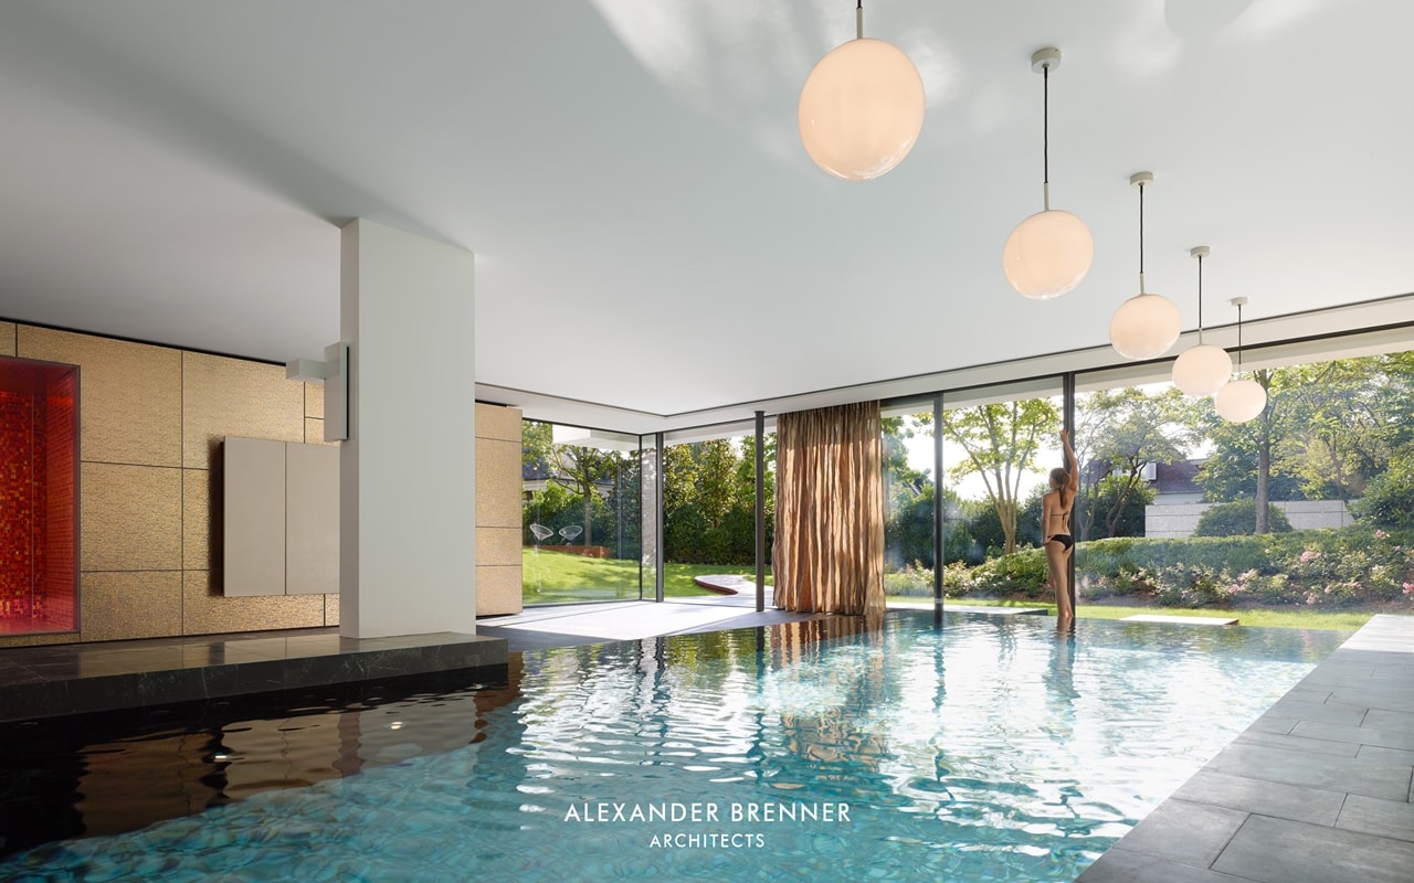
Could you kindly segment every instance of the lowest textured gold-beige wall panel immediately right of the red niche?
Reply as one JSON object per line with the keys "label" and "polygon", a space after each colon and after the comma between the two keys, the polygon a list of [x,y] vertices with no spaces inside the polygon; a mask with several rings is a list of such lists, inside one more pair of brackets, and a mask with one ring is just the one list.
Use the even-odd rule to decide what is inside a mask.
{"label": "lowest textured gold-beige wall panel immediately right of the red niche", "polygon": [[85,641],[181,634],[181,571],[83,574]]}

